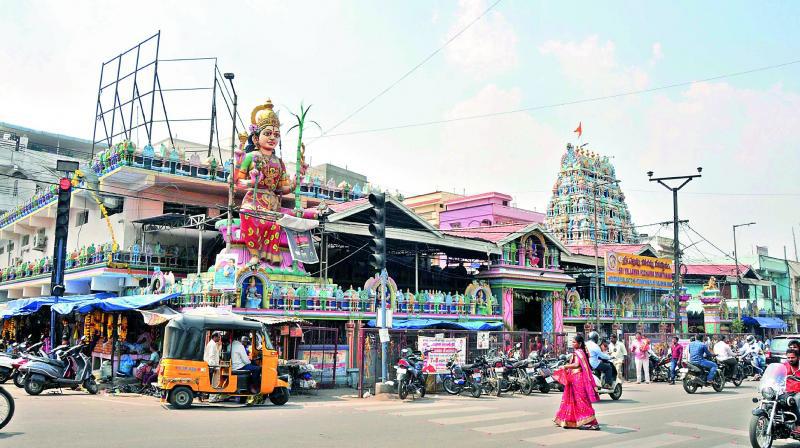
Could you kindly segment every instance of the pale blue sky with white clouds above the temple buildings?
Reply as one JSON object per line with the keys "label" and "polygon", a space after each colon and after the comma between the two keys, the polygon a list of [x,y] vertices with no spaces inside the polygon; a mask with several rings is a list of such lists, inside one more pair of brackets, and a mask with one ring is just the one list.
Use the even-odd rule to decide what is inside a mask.
{"label": "pale blue sky with white clouds above the temple buildings", "polygon": [[[741,72],[800,60],[800,4],[502,0],[463,31],[495,1],[0,0],[0,121],[91,139],[101,64],[160,30],[160,59],[216,57],[235,73],[245,120],[273,100],[289,162],[291,113],[310,104],[312,164],[406,196],[500,191],[544,211],[580,122],[581,143],[612,158],[641,233],[672,234],[647,226],[672,219],[672,198],[646,172],[703,167],[679,195],[697,231],[681,232],[696,243],[687,261],[725,260],[731,226],[751,221],[737,231],[740,254],[759,245],[782,257],[786,246],[794,258],[800,63]],[[165,62],[159,77],[165,89],[210,86],[213,61]],[[619,96],[634,91],[646,92]],[[168,92],[164,104],[170,119],[203,118],[210,98]],[[209,139],[207,123],[174,127]],[[226,146],[230,119],[219,128]]]}

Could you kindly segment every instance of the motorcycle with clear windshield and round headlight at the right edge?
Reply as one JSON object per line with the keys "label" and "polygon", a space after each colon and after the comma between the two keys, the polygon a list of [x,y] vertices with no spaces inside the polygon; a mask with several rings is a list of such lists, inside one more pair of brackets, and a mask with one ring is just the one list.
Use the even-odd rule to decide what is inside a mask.
{"label": "motorcycle with clear windshield and round headlight at the right edge", "polygon": [[796,376],[787,377],[786,366],[782,363],[770,364],[761,377],[758,385],[761,399],[753,398],[758,406],[752,411],[749,425],[753,448],[770,448],[779,439],[800,440],[800,436],[792,432],[798,424],[797,401],[793,394],[786,393],[787,378],[800,381]]}

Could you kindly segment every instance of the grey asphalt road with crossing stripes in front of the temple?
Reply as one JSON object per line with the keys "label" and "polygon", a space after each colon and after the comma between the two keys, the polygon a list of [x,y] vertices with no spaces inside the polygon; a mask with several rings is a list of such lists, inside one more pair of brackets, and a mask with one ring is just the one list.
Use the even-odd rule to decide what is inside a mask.
{"label": "grey asphalt road with crossing stripes in front of the temple", "polygon": [[[17,411],[0,447],[580,446],[592,448],[749,446],[756,383],[687,395],[680,385],[625,384],[623,397],[596,404],[599,432],[553,426],[560,395],[357,399],[342,390],[293,397],[283,407],[196,405],[68,391],[30,397],[11,384]],[[776,446],[797,446],[790,442]]]}

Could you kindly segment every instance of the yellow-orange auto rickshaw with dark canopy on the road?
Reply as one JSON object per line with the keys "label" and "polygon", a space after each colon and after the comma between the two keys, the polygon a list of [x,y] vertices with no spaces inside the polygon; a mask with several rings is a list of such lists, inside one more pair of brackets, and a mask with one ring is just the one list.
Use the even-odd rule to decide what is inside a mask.
{"label": "yellow-orange auto rickshaw with dark canopy on the road", "polygon": [[[212,333],[224,334],[228,349],[222,350],[219,365],[209,366],[203,353]],[[250,361],[261,366],[260,384],[251,384],[247,370],[231,366],[234,334],[244,334],[253,341]],[[228,356],[225,356],[226,353]],[[235,397],[268,397],[278,406],[289,401],[289,376],[278,376],[278,352],[269,340],[264,324],[241,316],[181,315],[172,319],[164,331],[164,356],[158,374],[161,401],[186,409],[195,397],[220,394]]]}

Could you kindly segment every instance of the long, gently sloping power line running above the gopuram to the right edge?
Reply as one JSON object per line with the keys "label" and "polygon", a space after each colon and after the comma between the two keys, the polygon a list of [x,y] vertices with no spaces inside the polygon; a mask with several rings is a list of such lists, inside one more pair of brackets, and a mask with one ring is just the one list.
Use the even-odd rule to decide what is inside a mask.
{"label": "long, gently sloping power line running above the gopuram to the right edge", "polygon": [[762,71],[767,71],[767,70],[775,70],[775,69],[788,67],[790,65],[794,65],[794,64],[798,64],[798,63],[800,63],[800,59],[794,60],[794,61],[783,62],[783,63],[780,63],[780,64],[773,64],[773,65],[767,65],[767,66],[763,66],[763,67],[757,67],[757,68],[753,68],[753,69],[749,69],[749,70],[743,70],[743,71],[739,71],[739,72],[732,72],[732,73],[726,73],[726,74],[717,75],[717,76],[711,76],[711,77],[708,77],[708,78],[702,78],[702,79],[698,79],[698,80],[694,80],[694,81],[681,81],[681,82],[676,82],[676,83],[672,83],[672,84],[665,84],[665,85],[661,85],[661,86],[658,86],[658,87],[651,87],[649,89],[630,90],[630,91],[615,93],[615,94],[611,94],[611,95],[602,95],[602,96],[583,98],[583,99],[578,99],[578,100],[573,100],[573,101],[562,101],[562,102],[558,102],[558,103],[544,104],[544,105],[539,105],[539,106],[531,106],[531,107],[525,107],[525,108],[521,108],[521,109],[512,109],[512,110],[501,111],[501,112],[491,112],[491,113],[485,113],[485,114],[466,115],[466,116],[463,116],[463,117],[448,118],[448,119],[444,119],[444,120],[432,120],[432,121],[424,121],[424,122],[419,122],[419,123],[408,123],[408,124],[402,124],[402,125],[397,125],[397,126],[387,126],[387,127],[383,127],[383,128],[364,129],[364,130],[360,130],[360,131],[351,131],[351,132],[339,132],[339,133],[336,133],[336,134],[323,133],[321,136],[317,137],[317,139],[330,138],[330,137],[342,137],[342,136],[358,135],[358,134],[368,134],[368,133],[375,133],[375,132],[385,132],[385,131],[392,131],[392,130],[397,130],[397,129],[407,129],[407,128],[417,128],[417,127],[424,127],[424,126],[433,126],[433,125],[447,124],[447,123],[453,123],[453,122],[458,122],[458,121],[477,120],[477,119],[481,119],[481,118],[491,118],[491,117],[498,117],[498,116],[502,116],[502,115],[517,114],[517,113],[521,113],[521,112],[533,112],[533,111],[538,111],[538,110],[554,109],[554,108],[558,108],[558,107],[574,106],[574,105],[577,105],[577,104],[593,103],[593,102],[605,101],[605,100],[609,100],[609,99],[623,98],[623,97],[627,97],[627,96],[641,95],[641,94],[645,94],[645,93],[653,93],[653,92],[658,92],[658,91],[661,91],[661,90],[674,89],[674,88],[677,88],[677,87],[686,87],[686,86],[690,86],[690,85],[696,84],[696,83],[717,81],[717,80],[720,80],[720,79],[733,78],[733,77],[736,77],[736,76],[744,76],[744,75],[749,75],[749,74],[752,74],[752,73],[757,73],[757,72],[762,72]]}

